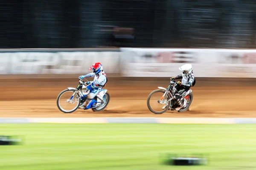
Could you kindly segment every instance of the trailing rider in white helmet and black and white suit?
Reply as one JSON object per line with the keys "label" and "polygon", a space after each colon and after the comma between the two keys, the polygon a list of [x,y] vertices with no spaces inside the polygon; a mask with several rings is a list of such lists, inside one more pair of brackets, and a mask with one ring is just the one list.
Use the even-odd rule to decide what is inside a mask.
{"label": "trailing rider in white helmet and black and white suit", "polygon": [[184,96],[186,92],[195,85],[195,77],[193,75],[193,68],[191,64],[182,65],[179,67],[179,70],[182,71],[182,74],[171,78],[171,80],[181,79],[181,82],[178,81],[172,91],[173,98],[176,103],[171,105],[171,107],[175,108],[175,105],[178,105],[176,108],[177,111],[184,105]]}

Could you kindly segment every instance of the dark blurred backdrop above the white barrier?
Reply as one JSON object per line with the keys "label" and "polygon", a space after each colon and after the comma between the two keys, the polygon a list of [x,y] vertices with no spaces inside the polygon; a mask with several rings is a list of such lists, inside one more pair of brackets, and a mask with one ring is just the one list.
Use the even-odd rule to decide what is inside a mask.
{"label": "dark blurred backdrop above the white barrier", "polygon": [[255,48],[255,0],[1,0],[0,48]]}

